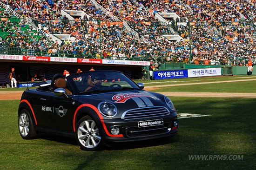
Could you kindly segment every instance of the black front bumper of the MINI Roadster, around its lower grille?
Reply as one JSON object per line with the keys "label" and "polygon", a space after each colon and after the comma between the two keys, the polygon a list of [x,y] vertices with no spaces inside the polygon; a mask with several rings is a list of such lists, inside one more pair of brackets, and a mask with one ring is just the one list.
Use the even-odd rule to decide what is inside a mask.
{"label": "black front bumper of the MINI Roadster, around its lower grille", "polygon": [[109,133],[112,127],[117,127],[120,130],[119,134],[123,137],[110,137],[105,135],[106,142],[133,142],[141,140],[156,139],[162,137],[172,137],[177,134],[177,116],[166,116],[163,118],[147,118],[149,120],[163,120],[163,124],[152,125],[146,127],[138,127],[138,122],[141,120],[123,120],[123,119],[107,119],[104,120]]}

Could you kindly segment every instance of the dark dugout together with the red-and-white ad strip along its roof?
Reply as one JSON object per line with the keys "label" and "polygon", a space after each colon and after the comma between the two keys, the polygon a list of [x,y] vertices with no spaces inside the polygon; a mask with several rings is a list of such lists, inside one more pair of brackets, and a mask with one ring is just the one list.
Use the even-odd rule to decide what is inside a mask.
{"label": "dark dugout together with the red-and-white ad strip along its roof", "polygon": [[64,70],[72,74],[78,69],[89,71],[92,66],[95,70],[121,71],[132,79],[139,79],[141,67],[149,64],[148,61],[0,55],[0,86],[10,85],[11,68],[15,68],[16,76],[20,74],[23,81],[31,81],[34,74],[51,79],[54,74],[62,74]]}

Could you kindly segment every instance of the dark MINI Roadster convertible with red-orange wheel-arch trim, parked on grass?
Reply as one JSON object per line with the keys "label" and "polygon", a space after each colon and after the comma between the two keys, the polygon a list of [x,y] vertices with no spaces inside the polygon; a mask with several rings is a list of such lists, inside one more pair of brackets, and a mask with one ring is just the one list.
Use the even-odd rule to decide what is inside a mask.
{"label": "dark MINI Roadster convertible with red-orange wheel-arch trim, parked on grass", "polygon": [[82,150],[105,144],[169,138],[177,133],[172,101],[143,90],[118,71],[75,73],[35,84],[20,99],[18,125],[23,139],[39,132],[76,138]]}

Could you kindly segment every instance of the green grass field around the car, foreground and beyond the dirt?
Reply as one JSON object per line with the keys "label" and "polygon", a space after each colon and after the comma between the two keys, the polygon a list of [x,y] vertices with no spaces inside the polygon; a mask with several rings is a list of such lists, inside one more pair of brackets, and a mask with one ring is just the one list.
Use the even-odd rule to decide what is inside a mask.
{"label": "green grass field around the car, foreground and beyond the dirt", "polygon": [[[193,81],[200,79],[193,78]],[[182,79],[185,80],[192,79]],[[253,90],[253,86],[247,86],[243,82],[231,85],[232,87],[229,85],[209,84],[196,89],[197,92],[222,92],[222,89],[229,88],[234,88],[232,92]],[[187,87],[184,91],[193,91],[188,85],[170,87],[164,91],[176,92],[183,87]],[[38,139],[22,139],[17,123],[19,100],[1,101],[0,170],[256,169],[256,98],[171,99],[179,113],[212,116],[179,119],[178,135],[172,139],[120,144],[95,152],[82,151],[74,139],[55,135],[42,134]],[[243,160],[189,160],[189,155],[239,155],[243,156]]]}

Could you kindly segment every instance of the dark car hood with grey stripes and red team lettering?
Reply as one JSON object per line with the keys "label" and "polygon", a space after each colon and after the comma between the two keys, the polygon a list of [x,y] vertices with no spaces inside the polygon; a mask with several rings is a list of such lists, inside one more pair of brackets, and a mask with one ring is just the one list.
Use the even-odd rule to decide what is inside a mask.
{"label": "dark car hood with grey stripes and red team lettering", "polygon": [[[91,104],[95,105],[96,107],[98,107],[98,104],[101,102],[110,102],[114,104],[118,109],[118,113],[123,113],[125,111],[136,108],[154,106],[164,106],[168,109],[169,112],[171,112],[166,105],[164,95],[155,92],[141,90],[121,91],[89,95],[87,97],[90,98],[90,103],[92,102]],[[82,103],[88,103],[88,99]]]}

